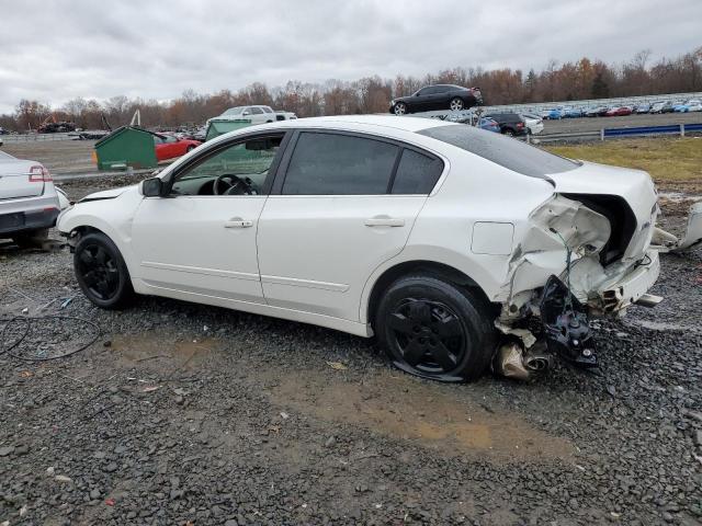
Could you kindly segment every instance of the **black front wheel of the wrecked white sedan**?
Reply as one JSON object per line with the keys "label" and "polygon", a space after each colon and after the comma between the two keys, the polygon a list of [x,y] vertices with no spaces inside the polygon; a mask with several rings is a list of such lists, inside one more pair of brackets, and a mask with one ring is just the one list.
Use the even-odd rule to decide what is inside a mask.
{"label": "black front wheel of the wrecked white sedan", "polygon": [[80,238],[73,253],[73,270],[80,289],[98,307],[122,309],[134,299],[127,265],[114,242],[102,232]]}

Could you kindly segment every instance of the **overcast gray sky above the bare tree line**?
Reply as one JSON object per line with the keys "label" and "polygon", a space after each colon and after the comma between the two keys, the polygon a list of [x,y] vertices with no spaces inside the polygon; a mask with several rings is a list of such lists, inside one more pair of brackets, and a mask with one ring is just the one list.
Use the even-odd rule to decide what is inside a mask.
{"label": "overcast gray sky above the bare tree line", "polygon": [[0,113],[702,45],[701,0],[0,0]]}

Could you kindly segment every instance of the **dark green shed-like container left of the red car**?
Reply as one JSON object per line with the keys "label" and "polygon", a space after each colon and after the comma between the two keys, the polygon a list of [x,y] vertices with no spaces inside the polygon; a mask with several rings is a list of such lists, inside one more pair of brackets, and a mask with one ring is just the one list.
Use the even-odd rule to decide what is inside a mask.
{"label": "dark green shed-like container left of the red car", "polygon": [[134,126],[123,126],[95,142],[94,160],[98,170],[155,168],[154,135]]}

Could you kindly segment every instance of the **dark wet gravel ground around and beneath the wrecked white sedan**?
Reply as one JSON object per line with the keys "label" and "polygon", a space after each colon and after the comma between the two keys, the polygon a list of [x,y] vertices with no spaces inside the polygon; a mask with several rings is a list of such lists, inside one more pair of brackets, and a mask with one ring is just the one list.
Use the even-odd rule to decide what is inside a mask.
{"label": "dark wet gravel ground around and beneath the wrecked white sedan", "polygon": [[[78,198],[127,182],[66,188]],[[666,220],[681,217],[671,208]],[[596,322],[600,374],[556,364],[529,384],[458,386],[398,373],[372,342],[312,325],[159,298],[99,310],[66,249],[5,244],[0,265],[0,318],[29,308],[100,328],[67,358],[0,354],[0,524],[702,518],[700,249],[663,256],[656,309]],[[79,348],[91,331],[43,320],[18,352]]]}

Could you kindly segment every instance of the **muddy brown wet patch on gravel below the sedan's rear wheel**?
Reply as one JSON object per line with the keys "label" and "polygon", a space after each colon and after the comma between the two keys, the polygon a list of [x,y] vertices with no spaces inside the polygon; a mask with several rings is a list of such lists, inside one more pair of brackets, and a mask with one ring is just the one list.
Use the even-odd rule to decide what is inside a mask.
{"label": "muddy brown wet patch on gravel below the sedan's rear wheel", "polygon": [[325,421],[360,425],[449,455],[571,457],[575,448],[568,441],[537,430],[514,413],[458,399],[454,387],[390,373],[350,384],[301,371],[280,378],[272,398],[284,408]]}

